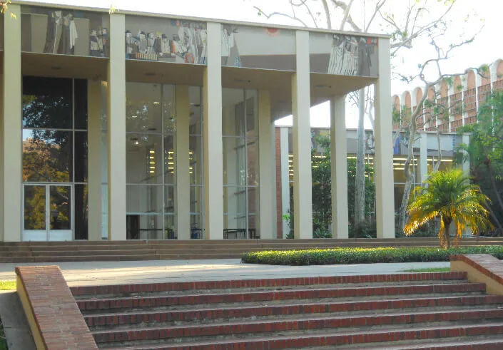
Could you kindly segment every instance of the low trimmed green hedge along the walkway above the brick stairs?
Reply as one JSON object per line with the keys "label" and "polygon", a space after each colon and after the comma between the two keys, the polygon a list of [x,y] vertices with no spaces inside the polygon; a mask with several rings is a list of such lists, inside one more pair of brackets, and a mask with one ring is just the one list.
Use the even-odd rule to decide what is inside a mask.
{"label": "low trimmed green hedge along the walkway above the brick stairs", "polygon": [[372,264],[376,262],[448,262],[455,254],[492,254],[503,259],[503,247],[377,247],[248,252],[242,262],[270,265]]}

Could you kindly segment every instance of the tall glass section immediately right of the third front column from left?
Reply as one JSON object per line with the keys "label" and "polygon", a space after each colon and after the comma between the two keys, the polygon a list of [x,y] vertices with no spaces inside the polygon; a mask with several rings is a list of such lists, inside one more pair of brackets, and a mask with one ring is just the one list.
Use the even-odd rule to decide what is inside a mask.
{"label": "tall glass section immediately right of the third front column from left", "polygon": [[223,237],[258,238],[258,92],[223,92]]}

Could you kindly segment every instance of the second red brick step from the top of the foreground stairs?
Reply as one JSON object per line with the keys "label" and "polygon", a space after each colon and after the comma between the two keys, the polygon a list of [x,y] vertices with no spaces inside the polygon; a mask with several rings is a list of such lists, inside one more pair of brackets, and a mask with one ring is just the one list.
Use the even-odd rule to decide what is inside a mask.
{"label": "second red brick step from the top of the foreground stairs", "polygon": [[159,297],[121,297],[77,300],[81,311],[96,309],[131,309],[141,307],[166,307],[188,304],[221,304],[243,302],[270,302],[291,299],[326,299],[342,297],[377,297],[408,294],[485,292],[483,283],[415,284],[405,286],[372,286],[275,290],[267,292],[233,292],[215,294],[183,294]]}

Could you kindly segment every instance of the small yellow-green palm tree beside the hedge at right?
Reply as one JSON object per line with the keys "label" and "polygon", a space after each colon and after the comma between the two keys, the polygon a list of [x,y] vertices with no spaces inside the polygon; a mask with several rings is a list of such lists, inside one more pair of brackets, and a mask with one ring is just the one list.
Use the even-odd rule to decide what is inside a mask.
{"label": "small yellow-green palm tree beside the hedge at right", "polygon": [[489,198],[462,170],[432,173],[425,181],[425,186],[416,187],[414,194],[407,207],[409,220],[404,227],[407,236],[438,217],[440,245],[449,248],[451,224],[456,227],[456,242],[466,227],[470,227],[474,235],[492,227],[488,220]]}

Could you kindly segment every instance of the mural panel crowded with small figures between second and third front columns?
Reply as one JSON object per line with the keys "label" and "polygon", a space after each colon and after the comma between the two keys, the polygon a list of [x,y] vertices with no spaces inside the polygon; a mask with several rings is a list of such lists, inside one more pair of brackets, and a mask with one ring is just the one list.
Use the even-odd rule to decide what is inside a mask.
{"label": "mural panel crowded with small figures between second and third front columns", "polygon": [[126,58],[206,64],[204,22],[126,16]]}

